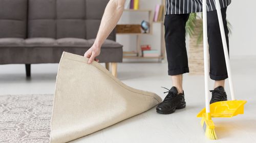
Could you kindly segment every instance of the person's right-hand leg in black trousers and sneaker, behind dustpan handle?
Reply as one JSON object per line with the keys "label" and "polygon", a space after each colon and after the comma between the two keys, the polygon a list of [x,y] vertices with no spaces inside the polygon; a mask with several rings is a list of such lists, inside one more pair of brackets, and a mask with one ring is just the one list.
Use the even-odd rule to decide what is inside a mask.
{"label": "person's right-hand leg in black trousers and sneaker, behind dustpan handle", "polygon": [[[222,8],[222,19],[225,29],[227,46],[228,43],[228,28],[226,21],[226,10]],[[208,43],[210,53],[210,78],[215,80],[214,90],[212,90],[212,98],[210,103],[227,100],[227,95],[224,90],[225,79],[228,78],[224,50],[222,45],[220,26],[217,16],[217,11],[207,12],[207,28],[208,28]]]}

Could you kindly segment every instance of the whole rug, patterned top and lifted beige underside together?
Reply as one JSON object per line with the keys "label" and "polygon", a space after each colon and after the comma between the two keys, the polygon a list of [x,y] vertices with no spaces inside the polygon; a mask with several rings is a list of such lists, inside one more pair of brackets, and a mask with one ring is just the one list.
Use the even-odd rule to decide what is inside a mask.
{"label": "whole rug, patterned top and lifted beige underside together", "polygon": [[55,97],[0,96],[0,142],[68,142],[138,115],[161,102],[154,93],[123,84],[100,64],[86,62],[83,56],[62,55]]}

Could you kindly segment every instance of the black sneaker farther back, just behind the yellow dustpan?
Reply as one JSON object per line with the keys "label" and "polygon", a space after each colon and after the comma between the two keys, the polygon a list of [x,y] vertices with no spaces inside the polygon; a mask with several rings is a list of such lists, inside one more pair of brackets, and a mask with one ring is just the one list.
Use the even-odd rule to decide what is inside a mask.
{"label": "black sneaker farther back, just behind the yellow dustpan", "polygon": [[227,94],[222,86],[219,86],[210,92],[211,92],[210,104],[218,101],[227,101]]}

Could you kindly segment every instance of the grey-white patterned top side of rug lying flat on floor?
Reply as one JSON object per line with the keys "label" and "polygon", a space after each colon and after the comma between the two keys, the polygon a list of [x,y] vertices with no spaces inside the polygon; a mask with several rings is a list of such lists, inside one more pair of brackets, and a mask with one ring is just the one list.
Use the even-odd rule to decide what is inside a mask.
{"label": "grey-white patterned top side of rug lying flat on floor", "polygon": [[0,96],[0,142],[50,141],[53,95]]}

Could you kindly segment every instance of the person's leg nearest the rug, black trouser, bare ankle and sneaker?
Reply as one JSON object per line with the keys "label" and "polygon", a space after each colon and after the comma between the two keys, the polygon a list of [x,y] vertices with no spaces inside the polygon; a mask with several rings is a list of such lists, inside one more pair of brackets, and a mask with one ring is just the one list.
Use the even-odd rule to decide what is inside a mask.
{"label": "person's leg nearest the rug, black trouser, bare ankle and sneaker", "polygon": [[166,15],[164,19],[168,75],[172,76],[173,87],[157,106],[158,113],[169,114],[186,106],[182,74],[189,72],[185,43],[185,25],[188,17],[189,14],[174,14]]}

